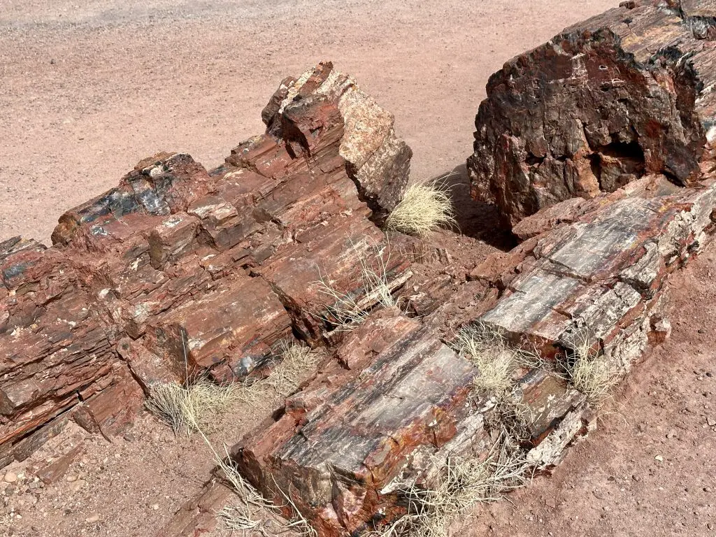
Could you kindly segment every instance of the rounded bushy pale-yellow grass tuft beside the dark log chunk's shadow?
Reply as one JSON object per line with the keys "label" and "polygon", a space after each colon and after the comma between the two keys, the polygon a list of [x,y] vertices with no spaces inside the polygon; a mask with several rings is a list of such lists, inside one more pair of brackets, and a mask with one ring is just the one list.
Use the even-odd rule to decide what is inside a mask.
{"label": "rounded bushy pale-yellow grass tuft beside the dark log chunk's shadow", "polygon": [[442,226],[455,225],[455,211],[445,185],[410,185],[385,222],[388,229],[425,236]]}

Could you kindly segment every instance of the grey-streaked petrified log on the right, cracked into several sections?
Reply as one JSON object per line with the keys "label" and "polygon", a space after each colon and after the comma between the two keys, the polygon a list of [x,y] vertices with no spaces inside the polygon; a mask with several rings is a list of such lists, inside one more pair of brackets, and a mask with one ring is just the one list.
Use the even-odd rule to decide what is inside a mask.
{"label": "grey-streaked petrified log on the right, cracked into several sections", "polygon": [[[586,203],[573,222],[497,254],[509,259],[501,266],[488,259],[473,271],[500,289],[496,301],[455,294],[422,322],[374,314],[278,419],[236,445],[242,473],[279,505],[289,495],[320,536],[342,536],[400,518],[407,488],[430,488],[448,458],[484,460],[501,427],[519,427],[513,441],[526,465],[556,465],[593,427],[591,401],[569,375],[532,366],[516,370],[505,409],[502,398],[475,392],[480,370],[445,345],[452,336],[440,324],[479,321],[536,349],[557,373],[581,356],[623,376],[663,336],[667,276],[716,231],[716,177],[684,189],[652,175]],[[463,317],[448,318],[450,306],[462,306]]]}

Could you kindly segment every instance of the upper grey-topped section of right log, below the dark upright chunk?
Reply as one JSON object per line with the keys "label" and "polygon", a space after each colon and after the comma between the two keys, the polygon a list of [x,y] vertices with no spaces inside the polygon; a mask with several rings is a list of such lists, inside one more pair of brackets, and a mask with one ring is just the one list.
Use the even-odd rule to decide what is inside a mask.
{"label": "upper grey-topped section of right log, below the dark upright chunk", "polygon": [[673,191],[665,178],[643,178],[607,196],[609,203],[594,200],[575,223],[539,236],[483,321],[528,339],[545,356],[586,343],[628,369],[647,344],[668,274],[714,231],[713,178]]}

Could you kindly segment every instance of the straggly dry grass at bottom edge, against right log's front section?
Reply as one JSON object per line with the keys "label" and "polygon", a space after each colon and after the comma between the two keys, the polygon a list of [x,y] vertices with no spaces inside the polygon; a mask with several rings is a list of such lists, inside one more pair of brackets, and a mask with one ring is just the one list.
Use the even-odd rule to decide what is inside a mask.
{"label": "straggly dry grass at bottom edge, against right log's front section", "polygon": [[406,486],[399,490],[407,503],[405,516],[372,532],[378,537],[448,537],[450,526],[476,503],[526,485],[529,465],[523,450],[503,430],[485,460],[449,456],[433,488]]}

